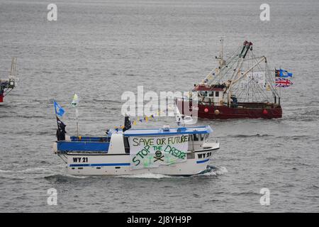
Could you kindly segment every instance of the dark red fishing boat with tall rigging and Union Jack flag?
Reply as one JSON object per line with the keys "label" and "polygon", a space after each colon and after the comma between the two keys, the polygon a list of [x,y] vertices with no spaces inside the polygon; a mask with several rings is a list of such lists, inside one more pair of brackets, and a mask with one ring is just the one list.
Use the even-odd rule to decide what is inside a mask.
{"label": "dark red fishing boat with tall rigging and Union Jack flag", "polygon": [[[279,70],[269,70],[266,57],[256,57],[252,43],[245,41],[233,55],[224,59],[223,38],[220,39],[219,65],[188,96],[176,99],[183,115],[198,118],[281,118]],[[282,77],[287,76],[286,72]],[[280,71],[280,72],[281,72]],[[275,74],[276,73],[276,74]],[[291,77],[292,74],[288,73]],[[289,81],[290,82],[290,81]],[[190,114],[193,111],[193,114]]]}

